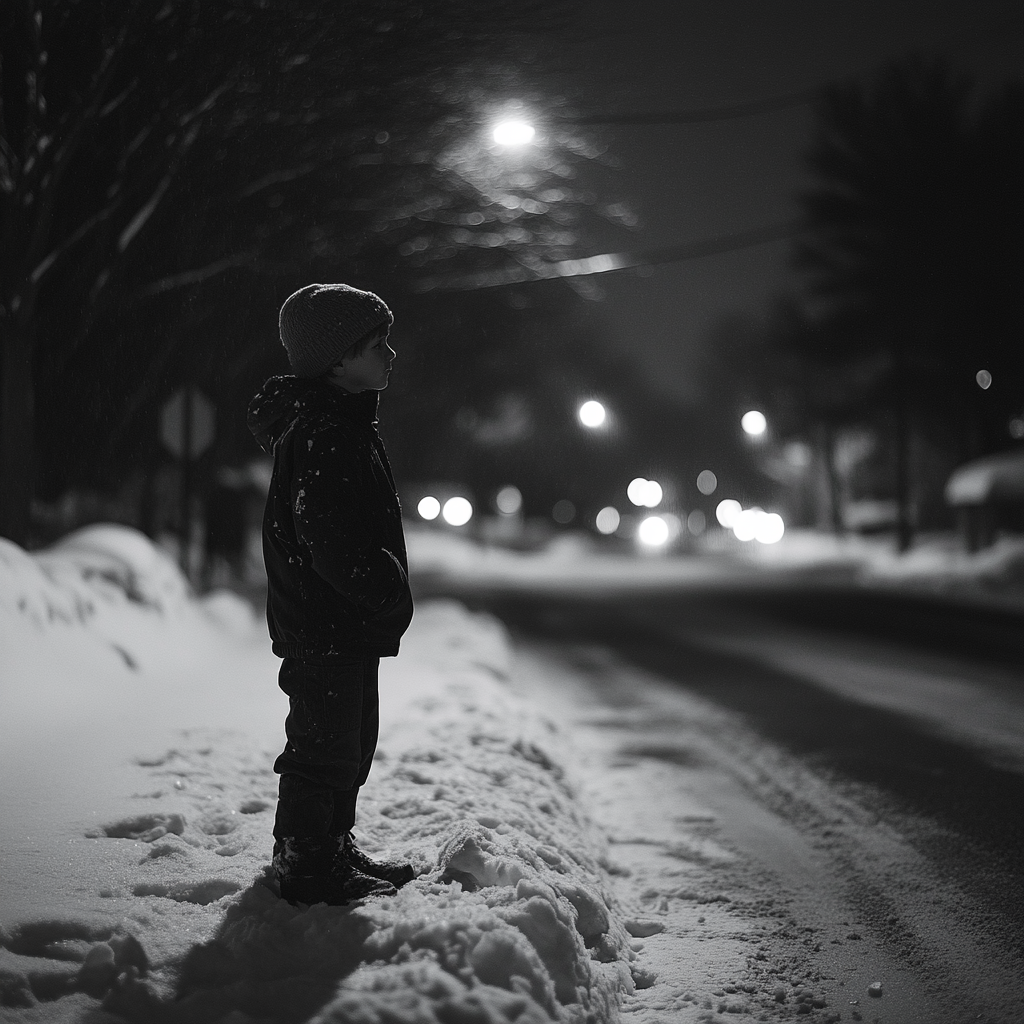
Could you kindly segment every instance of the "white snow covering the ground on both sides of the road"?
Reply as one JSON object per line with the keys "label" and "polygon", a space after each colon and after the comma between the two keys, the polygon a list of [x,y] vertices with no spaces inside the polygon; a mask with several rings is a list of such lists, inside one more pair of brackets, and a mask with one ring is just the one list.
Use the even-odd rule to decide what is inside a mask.
{"label": "white snow covering the ground on both sides of the road", "polygon": [[[412,542],[419,571],[504,586],[731,571],[682,559],[638,570],[571,541],[538,556]],[[783,552],[758,557],[777,571]],[[900,566],[795,538],[784,564],[1015,599],[1019,550],[986,557]],[[394,899],[302,912],[267,876],[287,701],[246,605],[194,599],[130,531],[95,527],[34,556],[0,541],[0,1020],[961,1019],[870,941],[822,852],[920,886],[927,868],[899,837],[733,716],[600,649],[513,651],[493,620],[421,604],[382,666],[357,828],[420,877]],[[870,674],[838,685],[870,698]],[[993,756],[1013,761],[1017,709],[990,712],[1004,730]],[[813,842],[766,809],[792,793]],[[970,955],[984,984],[987,951],[944,935],[929,901],[902,898],[939,961]]]}

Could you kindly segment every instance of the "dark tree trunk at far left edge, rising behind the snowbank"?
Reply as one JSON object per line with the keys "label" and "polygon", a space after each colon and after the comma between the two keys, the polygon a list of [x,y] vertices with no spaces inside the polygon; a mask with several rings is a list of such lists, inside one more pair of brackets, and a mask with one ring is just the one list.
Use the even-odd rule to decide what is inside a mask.
{"label": "dark tree trunk at far left edge, rising behind the snowbank", "polygon": [[32,333],[8,322],[0,330],[0,537],[22,547],[32,539],[34,417]]}

